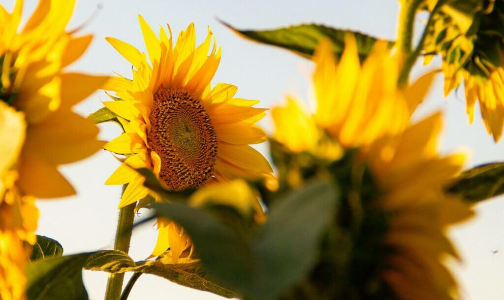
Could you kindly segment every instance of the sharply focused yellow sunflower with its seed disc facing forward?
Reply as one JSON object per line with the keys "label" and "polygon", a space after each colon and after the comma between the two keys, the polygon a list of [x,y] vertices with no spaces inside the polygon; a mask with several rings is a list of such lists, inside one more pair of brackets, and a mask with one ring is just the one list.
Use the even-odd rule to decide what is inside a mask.
{"label": "sharply focused yellow sunflower with its seed disc facing forward", "polygon": [[[266,109],[253,107],[259,100],[234,98],[233,85],[210,85],[221,58],[210,29],[196,47],[194,24],[174,41],[169,26],[168,34],[160,27],[158,38],[141,16],[139,21],[149,59],[128,43],[106,38],[134,67],[133,80],[119,76],[110,81],[105,89],[116,93],[114,101],[103,103],[124,130],[104,146],[126,156],[105,183],[128,184],[119,208],[149,194],[144,177],[130,166],[150,168],[171,191],[240,177],[272,178],[268,161],[249,146],[266,140],[255,125]],[[158,228],[151,257],[168,247],[179,253],[190,245],[178,225],[159,219]]]}

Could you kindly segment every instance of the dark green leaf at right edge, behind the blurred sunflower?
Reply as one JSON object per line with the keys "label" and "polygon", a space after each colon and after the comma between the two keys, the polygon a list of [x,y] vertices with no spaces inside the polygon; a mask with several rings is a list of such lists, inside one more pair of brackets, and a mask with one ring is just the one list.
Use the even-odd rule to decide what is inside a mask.
{"label": "dark green leaf at right edge, behind the blurred sunflower", "polygon": [[504,163],[489,163],[467,170],[447,190],[473,203],[504,194]]}

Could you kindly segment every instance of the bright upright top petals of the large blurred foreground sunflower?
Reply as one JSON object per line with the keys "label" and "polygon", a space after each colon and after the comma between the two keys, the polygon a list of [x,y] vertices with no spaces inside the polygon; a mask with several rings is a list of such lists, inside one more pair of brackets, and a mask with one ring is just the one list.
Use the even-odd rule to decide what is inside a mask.
{"label": "bright upright top petals of the large blurred foreground sunflower", "polygon": [[[401,132],[434,77],[430,72],[398,88],[400,55],[393,55],[385,41],[377,41],[361,64],[351,34],[345,37],[339,60],[331,42],[322,40],[313,62],[316,112],[308,115],[292,98],[286,106],[272,109],[274,138],[294,152],[320,148],[324,137],[320,128],[344,148],[366,146],[381,136]],[[335,158],[341,154],[336,146],[329,149]]]}

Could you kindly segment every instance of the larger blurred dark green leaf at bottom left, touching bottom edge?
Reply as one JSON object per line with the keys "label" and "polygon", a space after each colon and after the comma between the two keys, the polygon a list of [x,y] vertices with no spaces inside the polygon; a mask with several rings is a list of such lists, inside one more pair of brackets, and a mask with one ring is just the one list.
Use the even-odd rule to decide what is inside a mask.
{"label": "larger blurred dark green leaf at bottom left, touching bottom edge", "polygon": [[27,266],[30,300],[87,300],[82,267],[92,253],[45,259]]}

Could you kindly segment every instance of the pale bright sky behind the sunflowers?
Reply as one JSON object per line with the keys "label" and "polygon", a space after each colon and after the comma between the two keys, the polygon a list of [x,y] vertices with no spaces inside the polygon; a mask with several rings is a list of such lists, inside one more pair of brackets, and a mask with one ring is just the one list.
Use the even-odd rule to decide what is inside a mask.
{"label": "pale bright sky behind the sunflowers", "polygon": [[[36,0],[25,0],[26,12],[33,10]],[[2,0],[12,9],[14,0]],[[71,69],[95,74],[112,71],[129,76],[131,66],[104,37],[113,36],[143,49],[143,40],[137,14],[157,28],[169,23],[174,34],[190,22],[195,22],[199,42],[206,35],[207,25],[222,46],[220,68],[214,83],[237,85],[238,97],[260,99],[263,107],[282,101],[288,93],[300,99],[312,99],[310,73],[312,65],[304,58],[290,52],[246,41],[219,24],[219,17],[239,28],[274,28],[298,23],[323,23],[338,28],[350,28],[377,37],[393,39],[398,2],[394,0],[234,0],[234,1],[173,1],[173,0],[85,0],[78,3],[71,28],[84,22],[102,6],[97,17],[83,30],[94,33],[95,39],[84,57]],[[26,16],[26,15],[25,15]],[[417,18],[417,33],[422,18]],[[439,59],[428,68],[439,66]],[[417,65],[414,76],[427,68]],[[445,132],[442,151],[448,152],[462,146],[471,149],[472,160],[468,167],[485,162],[504,160],[504,143],[495,144],[486,133],[479,113],[474,124],[468,125],[462,91],[444,98],[442,78],[437,78],[426,102],[415,118],[434,110],[445,114]],[[101,107],[103,92],[97,92],[76,110],[87,115]],[[263,126],[271,129],[271,120]],[[119,130],[114,125],[100,126],[100,138],[111,140]],[[258,147],[267,154],[267,147]],[[117,204],[120,187],[105,186],[103,182],[117,167],[118,162],[107,152],[71,165],[61,167],[78,191],[78,196],[58,200],[38,201],[41,212],[38,234],[55,238],[65,248],[66,254],[100,249],[111,249],[117,221]],[[491,200],[477,207],[478,217],[451,232],[464,264],[457,268],[467,300],[501,300],[504,282],[504,201]],[[145,215],[145,214],[144,214]],[[135,229],[130,255],[135,260],[145,259],[151,253],[156,231],[150,225]],[[129,278],[129,275],[127,276]],[[90,298],[103,298],[107,274],[86,271],[84,281]],[[219,296],[191,290],[172,284],[165,279],[143,275],[133,288],[130,299],[218,299]]]}

